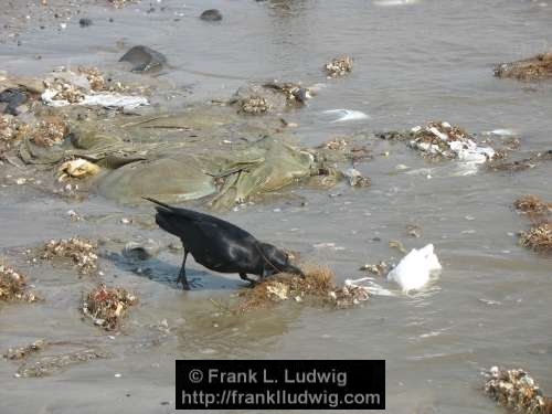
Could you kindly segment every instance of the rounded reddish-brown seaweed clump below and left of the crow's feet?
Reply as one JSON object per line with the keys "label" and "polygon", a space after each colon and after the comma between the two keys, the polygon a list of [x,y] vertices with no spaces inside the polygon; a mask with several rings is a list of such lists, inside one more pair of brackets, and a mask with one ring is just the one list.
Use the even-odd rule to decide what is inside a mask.
{"label": "rounded reddish-brown seaweed clump below and left of the crow's feet", "polygon": [[124,288],[107,288],[100,284],[86,295],[81,311],[92,318],[94,325],[105,330],[116,330],[128,308],[137,301],[138,298]]}

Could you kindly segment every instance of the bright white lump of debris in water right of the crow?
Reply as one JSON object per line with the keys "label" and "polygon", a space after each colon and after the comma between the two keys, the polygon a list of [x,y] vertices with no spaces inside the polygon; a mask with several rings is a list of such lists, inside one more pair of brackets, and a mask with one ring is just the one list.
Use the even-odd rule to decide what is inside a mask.
{"label": "bright white lump of debris in water right of the crow", "polygon": [[431,276],[440,269],[440,263],[433,253],[433,244],[428,244],[421,250],[413,248],[388,274],[388,279],[397,283],[403,293],[408,293],[420,290],[429,282]]}

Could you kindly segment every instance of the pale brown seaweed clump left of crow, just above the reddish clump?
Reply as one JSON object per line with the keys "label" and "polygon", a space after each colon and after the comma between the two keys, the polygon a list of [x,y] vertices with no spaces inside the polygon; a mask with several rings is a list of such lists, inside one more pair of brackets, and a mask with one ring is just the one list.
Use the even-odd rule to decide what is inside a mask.
{"label": "pale brown seaweed clump left of crow, just above the reddish clump", "polygon": [[42,248],[41,258],[71,259],[81,274],[92,274],[97,270],[97,245],[91,241],[72,237],[70,240],[51,240]]}

